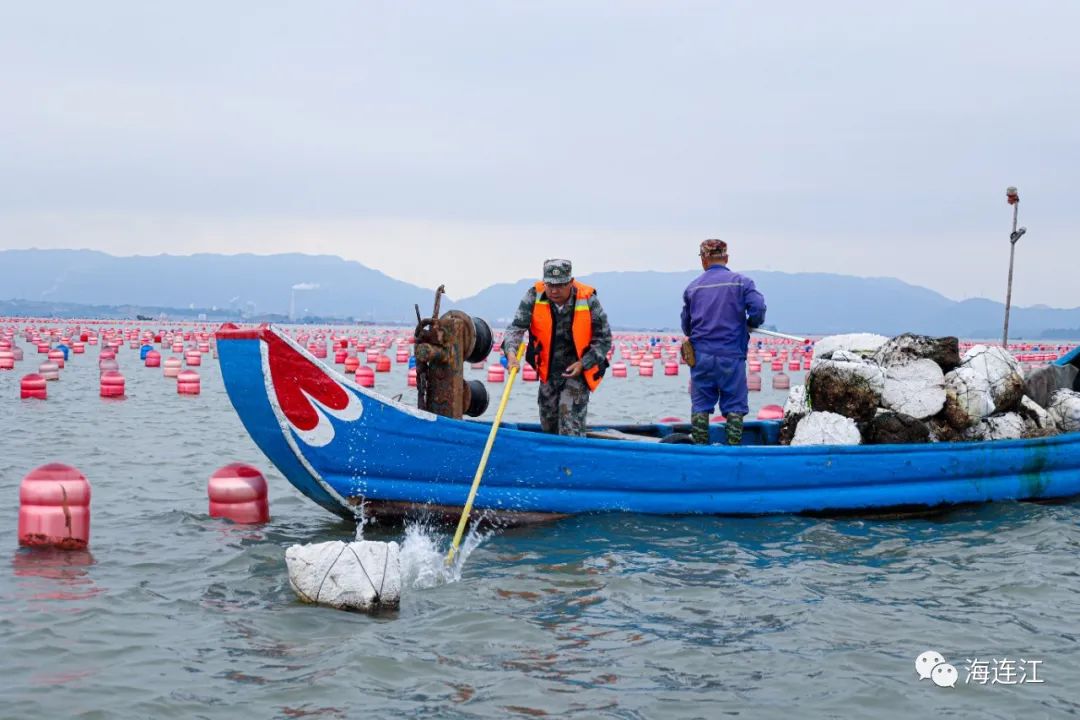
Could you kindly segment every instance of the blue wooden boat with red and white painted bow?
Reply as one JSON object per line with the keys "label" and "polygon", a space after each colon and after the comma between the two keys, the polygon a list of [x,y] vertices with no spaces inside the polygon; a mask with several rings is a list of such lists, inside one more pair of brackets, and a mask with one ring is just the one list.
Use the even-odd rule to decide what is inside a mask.
{"label": "blue wooden boat with red and white painted bow", "polygon": [[[303,494],[352,518],[457,513],[490,425],[443,418],[355,384],[272,326],[217,332],[247,432]],[[1057,361],[1077,363],[1078,351]],[[608,429],[659,437],[671,425]],[[717,429],[719,430],[719,429]],[[500,429],[478,511],[530,521],[573,513],[756,515],[932,508],[1080,494],[1080,433],[988,443],[785,447],[747,422],[741,447]],[[717,440],[719,437],[716,438]]]}

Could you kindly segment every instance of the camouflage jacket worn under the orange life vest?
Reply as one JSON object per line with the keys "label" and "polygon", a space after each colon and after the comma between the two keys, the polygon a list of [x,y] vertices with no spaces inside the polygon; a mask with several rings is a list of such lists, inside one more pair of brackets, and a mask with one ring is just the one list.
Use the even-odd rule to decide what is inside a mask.
{"label": "camouflage jacket worn under the orange life vest", "polygon": [[[593,340],[589,343],[589,349],[581,358],[581,365],[585,369],[595,367],[606,361],[608,350],[611,349],[611,326],[608,325],[607,313],[600,307],[600,301],[596,298],[596,293],[593,293],[592,297],[589,298],[589,312],[593,321]],[[549,379],[558,378],[569,365],[578,361],[578,354],[573,349],[573,334],[571,330],[573,305],[577,299],[578,291],[575,289],[570,293],[569,300],[562,308],[554,303],[551,305],[555,311],[555,332],[554,338],[552,338]],[[510,323],[510,327],[507,328],[502,341],[502,351],[508,356],[512,357],[517,352],[517,345],[528,331],[529,325],[532,324],[532,307],[536,304],[536,287],[530,287],[525,297],[522,298],[522,302],[517,305],[517,312],[514,313],[514,320]]]}

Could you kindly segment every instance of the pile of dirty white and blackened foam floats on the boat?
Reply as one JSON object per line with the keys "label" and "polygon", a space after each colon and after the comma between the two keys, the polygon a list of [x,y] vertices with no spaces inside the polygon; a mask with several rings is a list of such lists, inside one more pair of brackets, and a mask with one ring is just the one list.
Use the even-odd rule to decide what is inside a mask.
{"label": "pile of dirty white and blackened foam floats on the boat", "polygon": [[819,340],[791,389],[781,443],[877,445],[1042,437],[1080,430],[1077,368],[1024,377],[1005,350],[956,338],[837,335]]}

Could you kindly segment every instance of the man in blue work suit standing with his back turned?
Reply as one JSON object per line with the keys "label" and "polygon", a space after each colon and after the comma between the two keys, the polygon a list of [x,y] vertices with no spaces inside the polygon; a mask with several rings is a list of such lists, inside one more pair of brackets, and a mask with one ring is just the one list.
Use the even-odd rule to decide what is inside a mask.
{"label": "man in blue work suit standing with his back turned", "polygon": [[693,345],[690,369],[690,437],[708,444],[708,413],[720,404],[728,445],[742,443],[746,400],[746,345],[750,328],[765,322],[765,297],[754,281],[728,270],[728,244],[701,244],[699,277],[683,293],[683,332]]}

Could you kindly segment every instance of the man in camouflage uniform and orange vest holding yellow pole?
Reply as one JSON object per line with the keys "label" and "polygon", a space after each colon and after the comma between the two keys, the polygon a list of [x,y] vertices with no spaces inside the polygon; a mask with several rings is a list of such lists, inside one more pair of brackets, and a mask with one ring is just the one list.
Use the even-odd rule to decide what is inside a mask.
{"label": "man in camouflage uniform and orange vest holding yellow pole", "polygon": [[607,369],[611,328],[596,291],[573,279],[569,260],[545,260],[543,281],[522,298],[502,343],[510,367],[526,331],[526,359],[540,376],[540,426],[584,436],[589,396]]}

